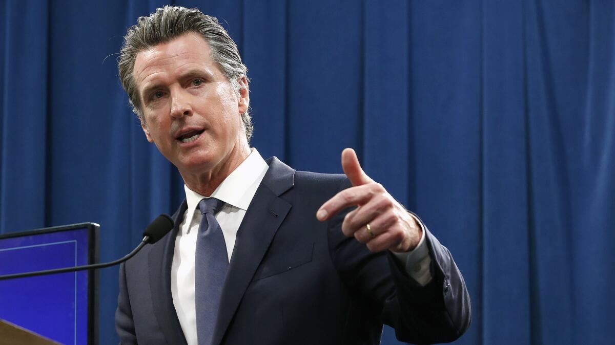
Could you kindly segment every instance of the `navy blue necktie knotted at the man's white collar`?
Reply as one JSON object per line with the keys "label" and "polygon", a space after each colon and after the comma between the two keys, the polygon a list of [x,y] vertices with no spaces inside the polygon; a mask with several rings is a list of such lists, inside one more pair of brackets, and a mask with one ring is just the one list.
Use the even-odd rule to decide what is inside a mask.
{"label": "navy blue necktie knotted at the man's white collar", "polygon": [[224,201],[216,198],[205,198],[199,202],[199,210],[203,216],[196,241],[194,265],[194,300],[199,345],[212,344],[222,287],[229,265],[224,234],[213,217],[223,205]]}

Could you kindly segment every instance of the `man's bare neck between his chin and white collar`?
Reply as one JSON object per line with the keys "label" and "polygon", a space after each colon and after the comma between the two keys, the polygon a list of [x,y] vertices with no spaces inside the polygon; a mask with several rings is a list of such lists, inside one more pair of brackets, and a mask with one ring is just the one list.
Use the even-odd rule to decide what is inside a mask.
{"label": "man's bare neck between his chin and white collar", "polygon": [[246,143],[233,150],[231,154],[224,158],[224,161],[220,162],[213,169],[196,174],[182,173],[180,171],[180,174],[190,190],[203,196],[211,196],[222,181],[237,169],[237,166],[243,163],[248,155],[250,155],[250,147]]}

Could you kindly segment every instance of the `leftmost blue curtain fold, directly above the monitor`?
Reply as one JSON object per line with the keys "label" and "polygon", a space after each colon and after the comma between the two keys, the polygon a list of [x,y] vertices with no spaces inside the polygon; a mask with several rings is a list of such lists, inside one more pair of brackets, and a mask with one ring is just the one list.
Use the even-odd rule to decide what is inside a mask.
{"label": "leftmost blue curtain fold, directly above the monitor", "polygon": [[[10,1],[4,4],[4,10],[15,17],[3,21],[2,33],[0,228],[17,231],[39,227],[48,219],[46,176],[50,171],[46,142],[50,139],[47,133],[50,119],[46,28],[49,7],[46,1]],[[28,192],[12,188],[15,185],[27,186]],[[13,217],[24,213],[29,216]]]}

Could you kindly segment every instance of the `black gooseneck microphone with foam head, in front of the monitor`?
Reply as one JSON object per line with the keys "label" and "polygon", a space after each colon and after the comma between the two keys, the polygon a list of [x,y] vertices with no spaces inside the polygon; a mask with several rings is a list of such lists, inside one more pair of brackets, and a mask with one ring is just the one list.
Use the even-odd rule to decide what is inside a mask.
{"label": "black gooseneck microphone with foam head, in front of the monitor", "polygon": [[129,258],[132,258],[145,246],[146,244],[154,244],[159,239],[167,235],[169,231],[174,227],[173,219],[169,217],[168,214],[161,214],[153,222],[149,223],[148,227],[143,231],[143,239],[141,243],[132,250],[128,255],[123,258],[117,259],[112,262],[104,262],[104,263],[96,263],[93,265],[82,265],[82,266],[74,266],[74,267],[65,267],[65,268],[56,268],[56,269],[46,269],[45,271],[34,271],[34,272],[26,272],[26,273],[15,273],[15,274],[6,274],[4,276],[0,276],[0,281],[5,279],[14,279],[14,278],[24,278],[31,276],[44,276],[46,274],[55,274],[55,273],[65,273],[65,272],[76,272],[83,271],[84,269],[97,269],[97,268],[105,268],[113,265],[117,265],[118,263],[125,262]]}

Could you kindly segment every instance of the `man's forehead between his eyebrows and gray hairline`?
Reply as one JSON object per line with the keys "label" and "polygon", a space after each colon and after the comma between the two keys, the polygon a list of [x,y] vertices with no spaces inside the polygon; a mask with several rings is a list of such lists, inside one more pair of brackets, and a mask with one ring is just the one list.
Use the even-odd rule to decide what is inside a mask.
{"label": "man's forehead between his eyebrows and gray hairline", "polygon": [[210,69],[215,73],[218,68],[210,52],[205,39],[197,33],[187,33],[172,41],[143,50],[137,53],[133,68],[137,87],[168,72],[179,72],[182,69],[198,67]]}

